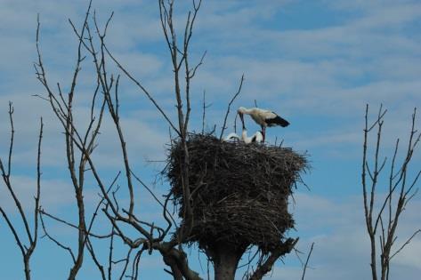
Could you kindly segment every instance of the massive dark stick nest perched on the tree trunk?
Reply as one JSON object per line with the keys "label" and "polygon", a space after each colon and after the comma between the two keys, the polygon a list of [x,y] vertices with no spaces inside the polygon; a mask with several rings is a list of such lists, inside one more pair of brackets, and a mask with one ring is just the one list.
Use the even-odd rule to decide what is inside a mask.
{"label": "massive dark stick nest perched on the tree trunk", "polygon": [[[254,244],[263,252],[279,246],[285,231],[294,227],[287,198],[307,167],[304,155],[291,148],[227,142],[203,134],[190,134],[187,147],[193,228],[184,241],[198,242],[202,248]],[[182,218],[180,140],[171,146],[168,161],[166,175]]]}

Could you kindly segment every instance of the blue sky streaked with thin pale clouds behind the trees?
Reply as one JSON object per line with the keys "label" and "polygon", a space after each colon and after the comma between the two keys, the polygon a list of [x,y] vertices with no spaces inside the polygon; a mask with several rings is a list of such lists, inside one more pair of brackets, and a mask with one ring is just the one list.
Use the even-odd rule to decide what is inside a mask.
{"label": "blue sky streaked with thin pale clouds behind the trees", "polygon": [[[190,1],[179,1],[175,20],[182,26]],[[41,19],[41,48],[49,79],[69,88],[75,64],[77,38],[68,18],[80,25],[86,1],[0,0],[0,156],[7,153],[8,101],[15,108],[15,153],[13,182],[28,209],[35,189],[36,137],[38,119],[45,119],[43,150],[43,197],[46,210],[74,220],[75,202],[67,178],[61,128],[43,100],[36,81],[36,13]],[[134,76],[139,77],[159,100],[169,116],[175,117],[171,66],[155,1],[93,1],[103,22],[114,11],[108,34],[109,48]],[[298,249],[306,252],[315,242],[306,279],[368,279],[368,237],[365,235],[360,195],[360,157],[365,104],[375,114],[380,103],[388,108],[385,120],[384,153],[390,156],[396,137],[405,140],[414,107],[421,105],[421,4],[419,1],[206,1],[198,14],[191,45],[191,60],[207,51],[204,65],[192,84],[192,123],[201,130],[202,92],[211,104],[206,127],[223,123],[231,95],[244,73],[243,90],[234,107],[271,108],[291,123],[286,129],[271,129],[268,140],[283,139],[284,145],[308,151],[312,172],[304,180],[310,186],[298,188],[296,231]],[[93,87],[90,60],[83,65],[77,94],[77,122],[84,125]],[[111,64],[111,63],[109,63]],[[110,65],[110,70],[117,71]],[[166,157],[168,129],[142,92],[127,79],[121,87],[122,122],[134,169],[156,190],[168,186],[153,184],[161,167],[147,160]],[[229,118],[233,124],[234,116]],[[250,130],[257,129],[252,122]],[[232,127],[232,126],[230,126]],[[418,125],[419,127],[419,125]],[[103,176],[122,167],[112,125],[106,122],[95,159]],[[414,170],[421,164],[414,158]],[[108,177],[106,177],[108,178]],[[3,185],[0,204],[13,216]],[[88,204],[98,200],[94,184],[86,189]],[[159,209],[138,188],[140,212],[145,219],[158,219]],[[124,200],[124,194],[122,194]],[[421,199],[409,205],[398,236],[401,242],[414,228],[421,228]],[[14,217],[14,216],[13,216]],[[15,217],[16,218],[16,217]],[[102,222],[102,223],[101,223]],[[105,220],[100,220],[98,230]],[[74,245],[76,232],[49,221],[50,231]],[[21,279],[19,251],[10,231],[0,220],[0,270],[4,279]],[[398,241],[399,243],[399,241]],[[70,259],[46,239],[38,244],[32,269],[36,279],[59,279],[67,275]],[[100,247],[101,244],[98,244]],[[393,278],[417,279],[421,273],[421,236],[393,261]],[[193,268],[202,276],[198,254],[190,256]],[[205,259],[201,257],[206,268]],[[166,279],[159,256],[141,261],[144,279],[153,275]],[[272,279],[299,279],[302,268],[294,253],[285,264],[279,261]],[[95,278],[86,258],[80,279]],[[240,275],[238,276],[240,277]],[[269,278],[269,277],[268,277]],[[143,278],[142,278],[143,279]]]}

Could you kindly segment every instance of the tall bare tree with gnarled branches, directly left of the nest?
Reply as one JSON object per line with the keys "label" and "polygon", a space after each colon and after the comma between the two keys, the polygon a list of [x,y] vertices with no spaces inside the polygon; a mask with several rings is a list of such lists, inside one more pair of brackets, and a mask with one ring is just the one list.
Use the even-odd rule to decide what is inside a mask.
{"label": "tall bare tree with gnarled branches, directly left of the nest", "polygon": [[[58,217],[53,216],[52,214],[42,210],[43,215],[47,215],[50,218],[61,221],[67,224],[70,227],[77,228],[78,231],[78,246],[77,253],[74,253],[72,249],[68,246],[61,244],[58,240],[48,235],[45,230],[45,235],[50,236],[50,239],[58,244],[61,248],[67,250],[74,260],[74,263],[69,271],[69,279],[75,279],[79,269],[83,265],[83,258],[85,249],[87,249],[93,261],[97,264],[97,267],[101,271],[101,276],[103,279],[106,279],[104,273],[103,265],[99,263],[98,258],[95,255],[93,249],[93,244],[90,242],[91,238],[109,238],[109,278],[111,275],[111,267],[113,264],[112,260],[112,248],[113,248],[113,239],[115,236],[118,236],[122,241],[128,245],[129,250],[127,252],[127,257],[125,258],[125,269],[127,268],[130,261],[133,263],[132,277],[137,278],[138,276],[138,264],[142,256],[142,252],[151,252],[156,250],[160,252],[163,256],[163,260],[166,265],[171,268],[171,274],[174,276],[174,279],[199,279],[198,273],[191,270],[188,266],[187,254],[182,251],[181,240],[182,236],[188,234],[189,227],[183,228],[182,231],[177,231],[175,236],[171,238],[169,236],[170,229],[176,227],[174,219],[171,217],[171,214],[168,212],[167,204],[170,199],[170,195],[166,196],[165,202],[161,202],[157,196],[155,196],[150,188],[143,183],[143,181],[134,174],[129,155],[127,153],[126,144],[125,144],[125,133],[121,128],[120,116],[119,116],[119,100],[118,100],[118,84],[120,76],[109,75],[107,69],[106,60],[112,60],[116,63],[117,67],[122,70],[122,72],[130,80],[136,84],[139,89],[150,99],[153,105],[158,109],[162,116],[166,119],[167,123],[174,130],[177,136],[182,140],[185,145],[186,139],[188,137],[188,124],[190,119],[190,79],[195,76],[195,73],[198,67],[202,64],[205,54],[198,64],[190,68],[189,66],[189,44],[190,38],[192,35],[193,25],[198,14],[198,10],[201,2],[193,2],[193,10],[189,12],[188,18],[186,20],[186,26],[184,30],[184,36],[182,41],[182,48],[180,49],[177,46],[177,40],[174,30],[173,23],[173,11],[174,11],[174,1],[164,2],[158,1],[160,9],[160,18],[164,34],[166,36],[166,43],[171,54],[171,60],[174,67],[174,96],[176,101],[177,116],[178,116],[178,125],[173,124],[170,118],[166,115],[165,111],[158,105],[158,101],[153,98],[153,95],[143,87],[142,83],[134,78],[125,68],[118,62],[118,60],[113,56],[105,44],[105,37],[107,35],[107,28],[109,27],[109,22],[112,19],[113,14],[111,13],[109,19],[107,20],[104,28],[101,29],[99,26],[95,12],[92,12],[91,6],[92,1],[89,3],[87,12],[85,14],[85,20],[83,21],[81,28],[77,28],[71,20],[69,23],[74,30],[75,35],[78,40],[77,47],[77,60],[75,69],[73,72],[72,79],[70,81],[70,90],[67,94],[61,92],[61,84],[57,84],[57,89],[54,90],[50,85],[50,82],[47,78],[47,71],[44,67],[41,50],[38,44],[39,40],[39,20],[38,28],[36,30],[36,50],[38,54],[38,60],[36,62],[36,76],[41,84],[45,87],[46,96],[40,96],[41,98],[47,100],[57,119],[60,121],[62,128],[64,129],[65,135],[65,144],[66,144],[66,157],[68,161],[69,174],[74,186],[76,204],[78,209],[78,223],[76,225],[70,224],[65,220],[61,220]],[[96,36],[96,37],[95,37]],[[99,44],[96,44],[99,42]],[[77,126],[74,119],[74,97],[77,94],[77,80],[78,74],[81,69],[81,65],[85,60],[85,54],[91,56],[93,59],[93,66],[96,71],[96,87],[93,92],[93,99],[91,102],[91,114],[89,124],[85,131],[82,131],[80,127]],[[182,78],[182,74],[184,78]],[[181,86],[182,81],[184,81],[183,86]],[[185,89],[184,94],[182,94],[181,89]],[[183,105],[185,102],[185,105]],[[117,132],[119,146],[121,148],[122,160],[124,163],[124,174],[125,174],[125,187],[128,190],[129,194],[129,204],[125,208],[119,204],[116,199],[115,192],[112,191],[112,195],[109,191],[112,189],[114,182],[111,184],[107,183],[101,178],[100,170],[97,167],[97,164],[93,161],[93,152],[97,146],[96,139],[101,131],[101,124],[104,114],[108,112],[111,116],[112,122],[115,124],[115,129]],[[184,149],[184,164],[182,166],[182,177],[184,186],[189,186],[189,153],[188,149],[185,146]],[[110,233],[104,235],[97,235],[91,232],[92,224],[96,212],[93,214],[93,219],[88,223],[86,221],[85,213],[85,201],[84,201],[84,183],[85,183],[85,173],[91,172],[94,180],[101,188],[101,203],[98,204],[99,207],[102,205],[102,212],[109,219],[109,222],[112,226]],[[117,177],[116,177],[117,178]],[[156,226],[155,221],[141,220],[136,217],[134,214],[134,207],[136,205],[134,197],[134,184],[139,184],[140,186],[146,188],[152,196],[155,197],[158,204],[163,208],[163,218],[166,220],[166,228],[159,228]],[[184,196],[187,201],[190,200],[190,189],[185,187],[183,188]],[[98,210],[98,207],[97,207]],[[184,218],[190,220],[190,206],[185,208]],[[128,234],[125,233],[125,229],[121,226],[130,226],[136,230],[140,237],[136,239],[131,239]],[[43,228],[44,222],[43,222]],[[45,228],[46,229],[46,228]],[[186,232],[187,231],[187,232]],[[169,239],[169,240],[168,240]],[[178,248],[176,248],[178,246]],[[130,260],[134,254],[133,260]],[[125,275],[125,269],[123,270],[120,278]]]}

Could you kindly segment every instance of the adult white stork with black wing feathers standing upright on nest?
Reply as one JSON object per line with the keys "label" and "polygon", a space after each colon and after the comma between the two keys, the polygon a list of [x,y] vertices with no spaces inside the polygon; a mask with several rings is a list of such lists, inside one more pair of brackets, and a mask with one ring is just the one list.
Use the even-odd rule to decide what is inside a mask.
{"label": "adult white stork with black wing feathers standing upright on nest", "polygon": [[261,108],[244,108],[240,107],[237,110],[239,117],[241,118],[241,122],[243,124],[243,129],[245,128],[244,125],[244,114],[250,115],[251,118],[255,121],[256,124],[260,124],[262,127],[262,134],[263,134],[263,141],[266,138],[266,126],[276,126],[280,125],[282,127],[286,127],[289,125],[288,121],[277,114],[273,113],[270,110],[265,110]]}

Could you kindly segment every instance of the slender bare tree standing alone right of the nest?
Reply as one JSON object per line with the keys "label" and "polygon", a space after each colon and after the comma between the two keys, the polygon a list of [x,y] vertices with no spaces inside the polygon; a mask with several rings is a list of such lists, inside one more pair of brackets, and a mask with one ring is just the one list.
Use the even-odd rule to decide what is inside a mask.
{"label": "slender bare tree standing alone right of the nest", "polygon": [[[386,110],[381,106],[375,120],[370,123],[368,121],[368,105],[366,107],[361,180],[365,220],[370,239],[370,266],[373,280],[377,280],[378,277],[382,280],[389,279],[390,261],[409,244],[414,236],[421,232],[421,228],[416,229],[401,247],[395,249],[396,230],[401,214],[409,201],[417,194],[416,184],[421,174],[421,170],[419,170],[414,178],[409,175],[409,165],[421,137],[421,133],[416,129],[417,108],[414,108],[412,114],[409,140],[401,164],[398,164],[397,161],[400,140],[396,140],[386,180],[386,194],[383,198],[379,194],[381,186],[378,185],[383,184],[380,175],[385,171],[387,163],[387,158],[382,159],[380,156],[385,113]],[[371,151],[368,147],[370,132],[376,132],[376,144],[372,158],[369,158]],[[377,249],[380,249],[379,255]],[[377,260],[379,260],[379,266]],[[380,275],[378,275],[378,269],[380,269]]]}

